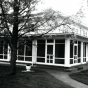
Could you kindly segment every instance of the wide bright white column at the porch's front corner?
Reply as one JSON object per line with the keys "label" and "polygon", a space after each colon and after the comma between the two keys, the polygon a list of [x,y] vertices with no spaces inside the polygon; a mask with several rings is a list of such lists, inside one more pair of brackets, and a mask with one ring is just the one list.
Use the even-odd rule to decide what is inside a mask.
{"label": "wide bright white column at the porch's front corner", "polygon": [[70,66],[70,39],[65,39],[65,66]]}

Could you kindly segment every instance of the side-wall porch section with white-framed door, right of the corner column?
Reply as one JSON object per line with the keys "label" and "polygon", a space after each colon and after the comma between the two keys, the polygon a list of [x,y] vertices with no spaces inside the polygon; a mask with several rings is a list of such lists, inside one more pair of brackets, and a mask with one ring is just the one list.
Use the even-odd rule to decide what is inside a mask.
{"label": "side-wall porch section with white-framed door, right of the corner column", "polygon": [[70,64],[81,62],[81,42],[70,40]]}

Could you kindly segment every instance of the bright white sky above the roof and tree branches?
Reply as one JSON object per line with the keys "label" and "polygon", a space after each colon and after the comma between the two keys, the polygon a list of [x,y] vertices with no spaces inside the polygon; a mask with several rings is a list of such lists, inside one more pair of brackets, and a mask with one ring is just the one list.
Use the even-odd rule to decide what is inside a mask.
{"label": "bright white sky above the roof and tree branches", "polygon": [[87,0],[42,0],[38,5],[38,11],[52,8],[55,11],[60,11],[67,16],[75,15],[82,8],[85,18],[84,24],[88,24],[88,7]]}

